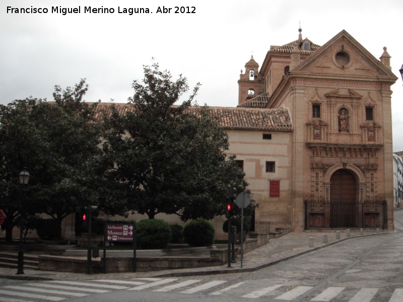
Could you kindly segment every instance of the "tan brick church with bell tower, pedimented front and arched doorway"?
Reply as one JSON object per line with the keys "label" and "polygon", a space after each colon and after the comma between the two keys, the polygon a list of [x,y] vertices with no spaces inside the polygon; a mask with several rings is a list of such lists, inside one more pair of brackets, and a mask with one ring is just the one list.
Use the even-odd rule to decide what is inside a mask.
{"label": "tan brick church with bell tower, pedimented front and arched doorway", "polygon": [[386,47],[376,59],[345,30],[323,46],[299,31],[298,40],[271,46],[260,68],[252,57],[238,81],[238,108],[288,110],[292,123],[288,153],[265,150],[282,172],[267,174],[258,192],[245,170],[259,203],[255,220],[294,232],[393,230],[390,87],[397,78]]}

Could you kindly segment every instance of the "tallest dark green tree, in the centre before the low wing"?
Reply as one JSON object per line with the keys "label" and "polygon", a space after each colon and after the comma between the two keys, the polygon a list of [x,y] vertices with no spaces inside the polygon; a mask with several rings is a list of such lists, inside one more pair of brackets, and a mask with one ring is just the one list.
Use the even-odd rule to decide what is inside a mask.
{"label": "tallest dark green tree, in the centre before the low wing", "polygon": [[199,84],[185,97],[187,79],[173,80],[153,64],[132,87],[130,110],[121,115],[111,106],[103,123],[105,190],[114,190],[103,194],[102,208],[149,218],[177,214],[183,221],[224,214],[227,186],[240,192],[247,184],[226,154],[224,129],[207,107],[192,106]]}

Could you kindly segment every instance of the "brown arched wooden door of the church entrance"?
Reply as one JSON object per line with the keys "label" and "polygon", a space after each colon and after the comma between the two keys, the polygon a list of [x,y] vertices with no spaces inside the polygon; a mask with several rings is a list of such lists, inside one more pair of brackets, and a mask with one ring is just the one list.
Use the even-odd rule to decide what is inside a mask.
{"label": "brown arched wooden door of the church entrance", "polygon": [[330,226],[350,228],[356,226],[356,178],[349,170],[340,169],[330,177]]}

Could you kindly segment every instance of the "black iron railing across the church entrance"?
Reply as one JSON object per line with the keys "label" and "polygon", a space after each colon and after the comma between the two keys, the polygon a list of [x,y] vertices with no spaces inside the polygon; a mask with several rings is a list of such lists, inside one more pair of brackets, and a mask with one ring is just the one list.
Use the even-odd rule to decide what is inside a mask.
{"label": "black iron railing across the church entrance", "polygon": [[305,230],[387,229],[386,201],[304,202]]}

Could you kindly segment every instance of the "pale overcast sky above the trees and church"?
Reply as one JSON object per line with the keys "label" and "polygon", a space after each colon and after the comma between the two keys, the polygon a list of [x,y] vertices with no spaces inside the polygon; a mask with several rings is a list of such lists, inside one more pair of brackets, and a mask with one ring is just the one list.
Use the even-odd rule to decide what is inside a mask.
{"label": "pale overcast sky above the trees and church", "polygon": [[[181,7],[184,13],[175,13]],[[36,13],[16,13],[21,8]],[[80,13],[63,15],[67,8]],[[149,13],[135,13],[140,8]],[[174,79],[186,77],[190,90],[201,83],[199,105],[235,107],[240,70],[251,55],[261,65],[271,45],[297,40],[300,26],[303,38],[319,45],[346,30],[375,58],[384,46],[391,56],[397,152],[403,150],[402,21],[401,0],[2,0],[0,104],[29,96],[51,101],[55,85],[74,87],[83,78],[86,101],[125,103],[143,65],[157,62]]]}

